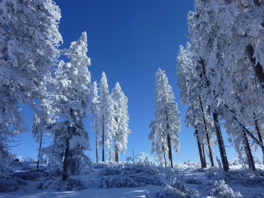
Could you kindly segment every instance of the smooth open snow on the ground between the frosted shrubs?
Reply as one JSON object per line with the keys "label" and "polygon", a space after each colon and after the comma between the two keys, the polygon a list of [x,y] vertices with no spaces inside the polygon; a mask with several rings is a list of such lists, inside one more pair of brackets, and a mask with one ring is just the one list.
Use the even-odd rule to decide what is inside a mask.
{"label": "smooth open snow on the ground between the frosted shrubs", "polygon": [[[35,169],[35,164],[30,164],[32,168]],[[46,165],[42,164],[42,167],[46,167]],[[178,170],[174,174],[174,177],[177,180],[181,180],[180,178],[185,179],[195,179],[202,182],[202,185],[199,184],[190,184],[186,183],[185,185],[188,188],[195,189],[199,192],[199,198],[213,198],[213,196],[209,196],[204,191],[204,183],[210,181],[209,178],[206,178],[205,172],[195,171],[200,168],[200,164],[198,163],[177,163],[174,164],[174,169]],[[210,165],[208,164],[208,167]],[[256,164],[257,169],[261,169],[264,171],[264,164]],[[22,167],[12,167],[10,168],[14,172],[23,172],[28,170],[22,170]],[[232,165],[230,166],[230,170],[238,170],[242,169],[241,165]],[[145,197],[146,190],[155,193],[158,190],[161,190],[162,186],[156,185],[146,185],[139,187],[122,187],[122,188],[98,188],[98,181],[100,177],[98,176],[98,172],[100,172],[102,168],[93,168],[93,172],[90,174],[82,174],[79,176],[71,176],[70,178],[78,178],[81,179],[82,182],[88,187],[85,190],[81,190],[78,192],[58,192],[55,190],[50,190],[48,188],[40,188],[37,186],[39,183],[35,181],[27,181],[29,185],[22,186],[19,185],[19,189],[17,191],[12,191],[10,193],[0,193],[0,197],[17,197],[17,198],[26,198],[26,197],[92,197],[92,198],[125,198],[125,197]],[[199,170],[199,169],[198,169]],[[158,177],[162,180],[165,178],[165,173],[160,172]],[[264,182],[264,179],[263,179]],[[232,188],[234,192],[239,191],[244,198],[255,198],[255,197],[263,197],[263,196],[255,196],[257,192],[264,192],[264,187],[255,186],[255,187],[246,187],[239,184],[236,184],[234,181],[227,182],[228,186]],[[196,198],[196,197],[195,197]],[[198,197],[197,197],[198,198]]]}

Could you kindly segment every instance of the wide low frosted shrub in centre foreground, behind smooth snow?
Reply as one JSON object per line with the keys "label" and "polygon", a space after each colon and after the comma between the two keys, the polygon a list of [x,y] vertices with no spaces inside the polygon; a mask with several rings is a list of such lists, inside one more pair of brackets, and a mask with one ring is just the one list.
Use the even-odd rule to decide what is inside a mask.
{"label": "wide low frosted shrub in centre foreground, behind smooth snow", "polygon": [[122,188],[122,187],[138,187],[145,185],[160,186],[161,182],[157,176],[127,176],[127,175],[114,175],[101,178],[98,184],[99,188]]}

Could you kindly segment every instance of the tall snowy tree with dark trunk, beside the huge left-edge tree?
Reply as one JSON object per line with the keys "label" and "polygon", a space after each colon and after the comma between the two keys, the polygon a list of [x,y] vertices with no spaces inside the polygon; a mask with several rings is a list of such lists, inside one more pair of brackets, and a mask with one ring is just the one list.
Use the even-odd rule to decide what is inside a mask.
{"label": "tall snowy tree with dark trunk, beside the huge left-edge tree", "polygon": [[59,116],[65,121],[58,120],[52,125],[50,131],[53,134],[53,142],[44,148],[44,152],[60,171],[63,166],[64,171],[69,169],[71,174],[79,174],[84,167],[91,165],[90,159],[84,154],[84,150],[90,149],[88,133],[83,124],[89,105],[91,83],[87,68],[91,63],[86,55],[86,32],[64,51],[70,61],[61,61],[56,68],[53,97],[56,101],[54,107],[59,110]]}

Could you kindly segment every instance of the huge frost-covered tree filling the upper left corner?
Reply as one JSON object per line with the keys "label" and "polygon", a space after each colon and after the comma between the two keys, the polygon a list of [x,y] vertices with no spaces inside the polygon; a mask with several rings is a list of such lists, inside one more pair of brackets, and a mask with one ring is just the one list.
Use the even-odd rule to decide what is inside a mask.
{"label": "huge frost-covered tree filling the upper left corner", "polygon": [[0,1],[0,161],[8,156],[8,137],[27,130],[23,104],[46,97],[51,68],[60,55],[59,7],[46,0]]}

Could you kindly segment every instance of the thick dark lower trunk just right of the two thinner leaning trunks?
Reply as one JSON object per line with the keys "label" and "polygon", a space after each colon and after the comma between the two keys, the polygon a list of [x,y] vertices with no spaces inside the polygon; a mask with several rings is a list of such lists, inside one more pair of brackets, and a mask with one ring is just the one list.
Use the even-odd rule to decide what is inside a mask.
{"label": "thick dark lower trunk just right of the two thinner leaning trunks", "polygon": [[215,112],[213,112],[213,119],[214,119],[214,125],[215,125],[215,130],[216,130],[217,141],[218,141],[218,145],[219,145],[219,151],[220,151],[220,155],[221,155],[221,161],[223,164],[223,169],[225,172],[228,172],[228,162],[227,162],[227,157],[226,157],[225,151],[224,151],[225,148],[224,148],[224,144],[223,144],[223,138],[222,138],[219,122],[218,122],[218,117],[217,117],[217,114]]}

